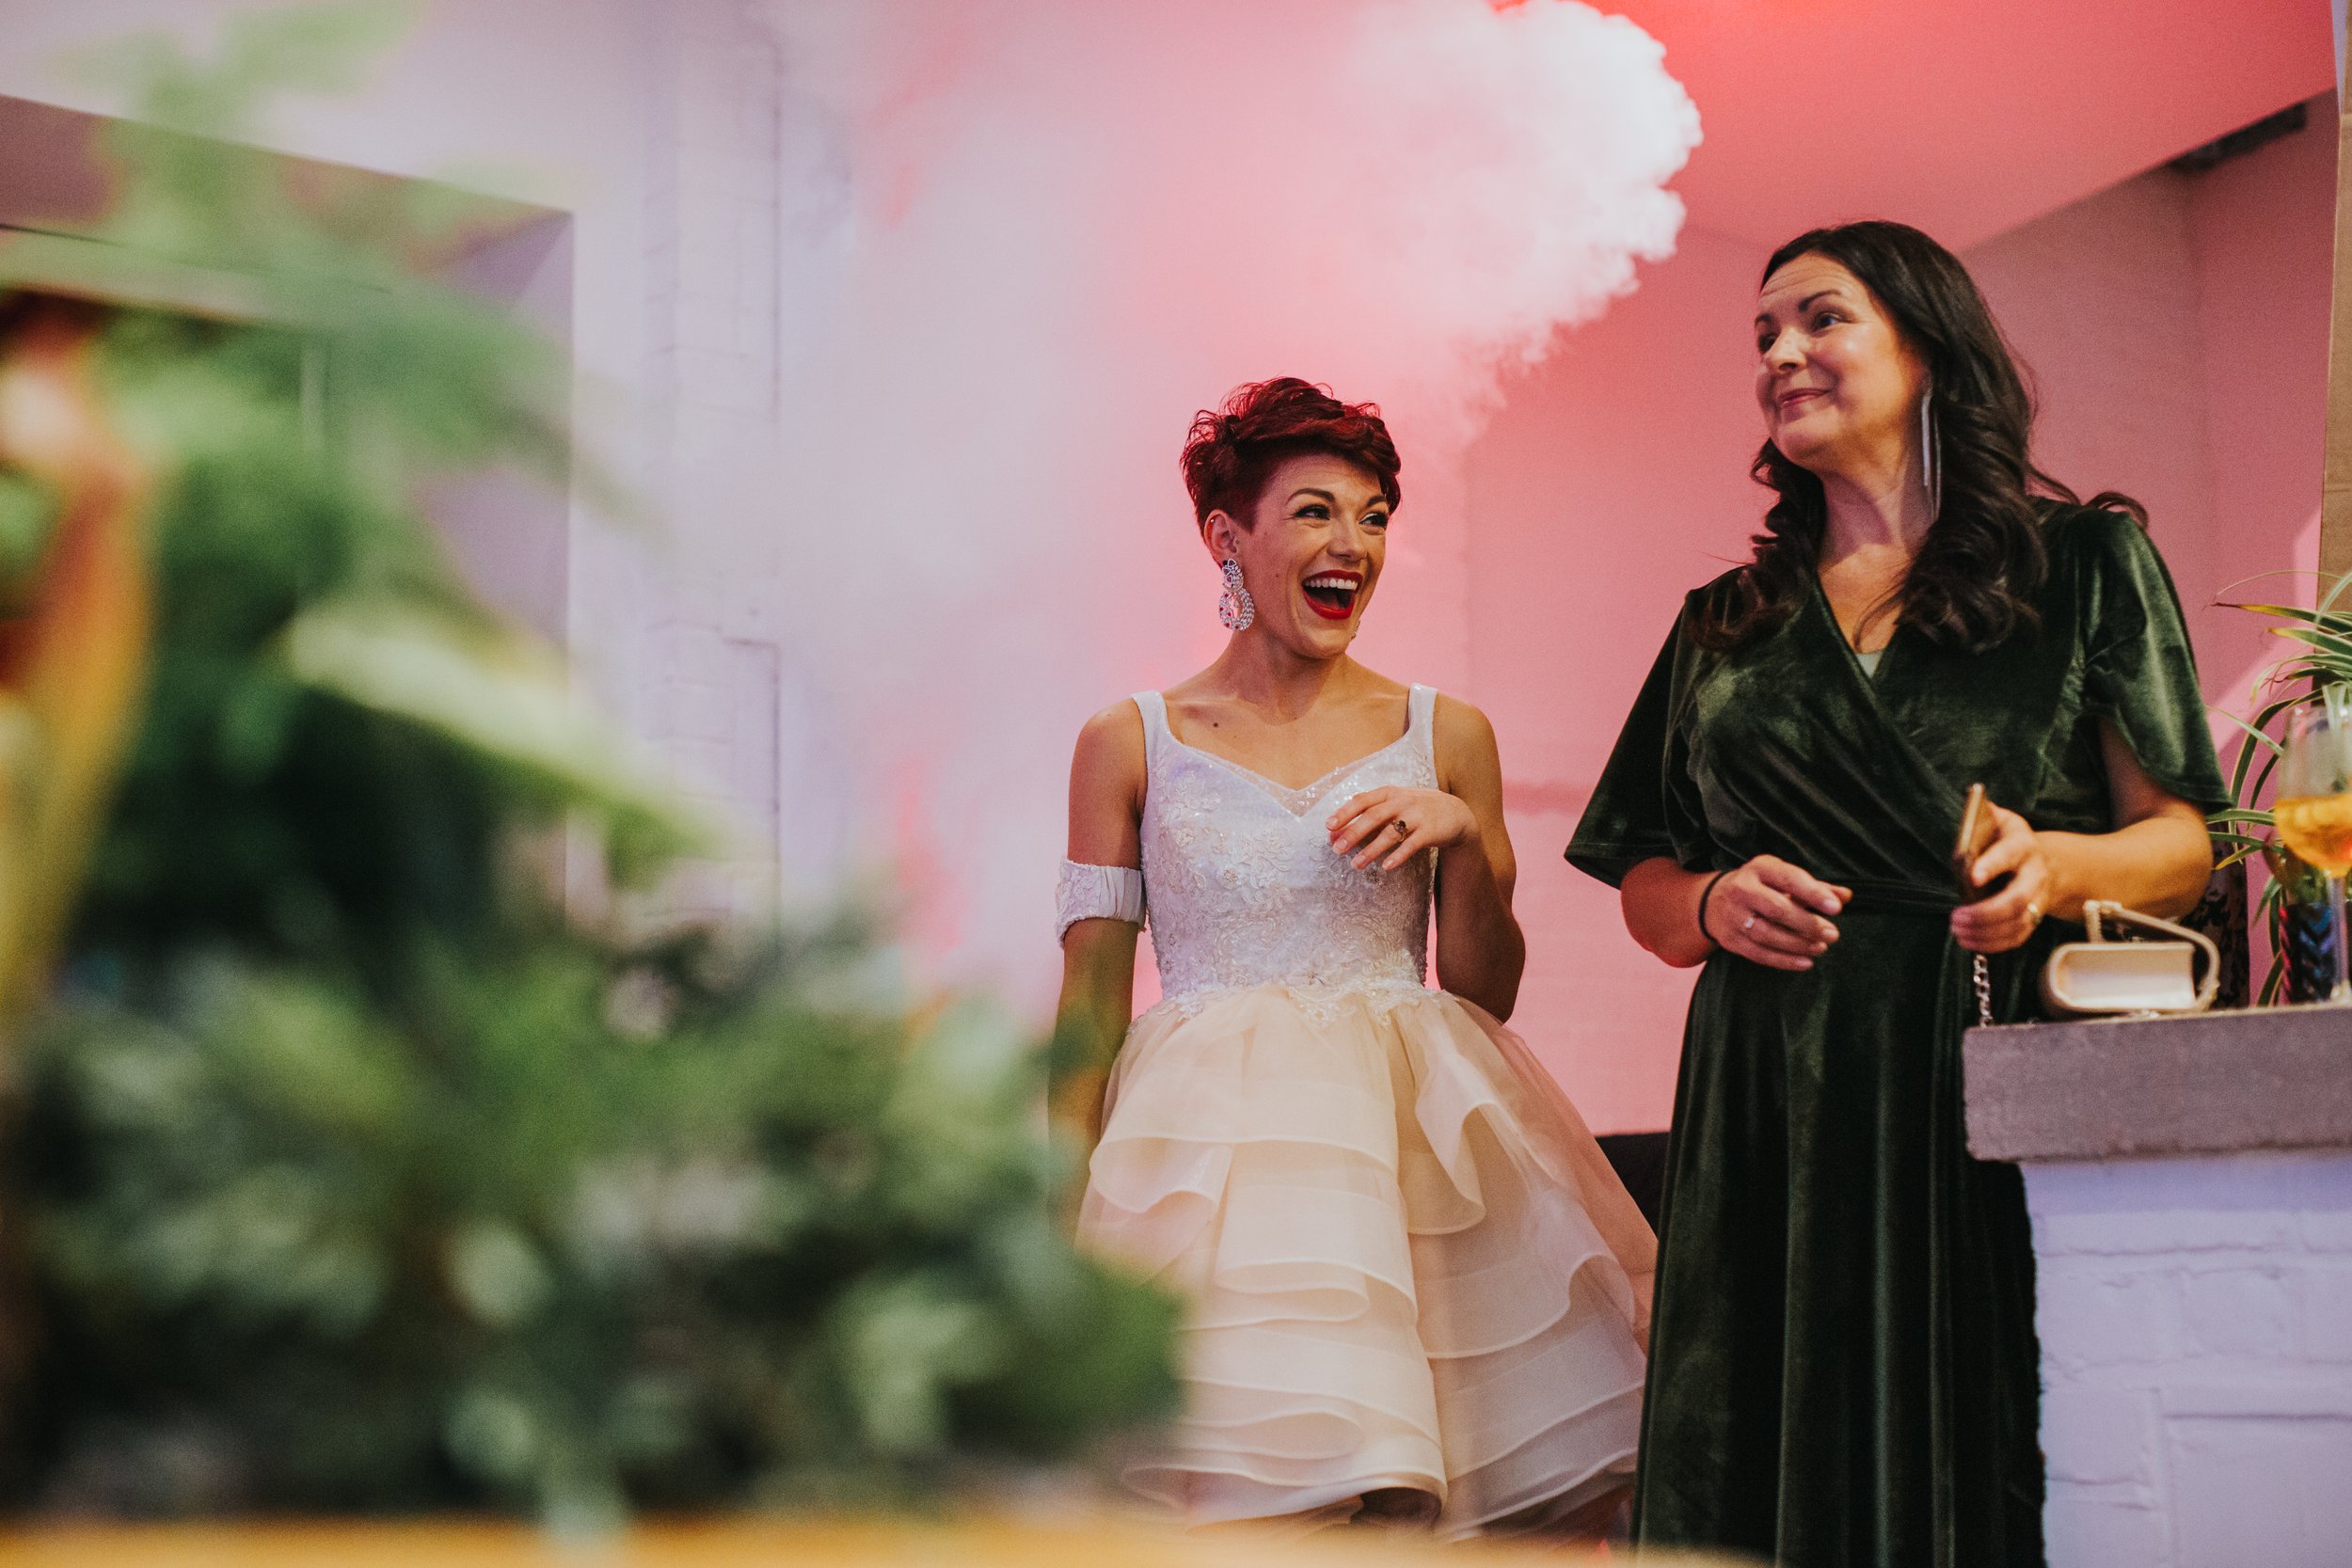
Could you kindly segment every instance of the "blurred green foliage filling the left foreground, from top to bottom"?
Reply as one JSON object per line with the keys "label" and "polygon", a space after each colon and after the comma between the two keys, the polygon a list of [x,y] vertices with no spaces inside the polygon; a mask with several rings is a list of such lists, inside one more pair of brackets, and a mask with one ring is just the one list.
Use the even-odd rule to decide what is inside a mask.
{"label": "blurred green foliage filling the left foreground, from top to bottom", "polygon": [[[1033,1041],[983,1006],[908,1018],[851,924],[630,940],[562,910],[564,825],[630,875],[701,827],[475,602],[416,494],[485,463],[609,494],[567,449],[564,364],[416,275],[461,200],[299,195],[202,139],[381,33],[327,7],[247,16],[214,63],[111,56],[167,127],[122,136],[111,237],[254,308],[103,339],[162,473],[158,625],[66,976],[16,1041],[9,1490],[600,1526],[906,1500],[1150,1418],[1174,1307],[1054,1225]],[[42,531],[0,480],[0,571]]]}

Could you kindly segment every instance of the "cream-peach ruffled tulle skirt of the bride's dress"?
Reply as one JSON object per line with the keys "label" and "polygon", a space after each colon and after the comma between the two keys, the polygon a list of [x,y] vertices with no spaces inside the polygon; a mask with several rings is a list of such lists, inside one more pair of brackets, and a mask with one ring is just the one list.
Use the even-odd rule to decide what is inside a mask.
{"label": "cream-peach ruffled tulle skirt of the bride's dress", "polygon": [[1190,1523],[1411,1488],[1468,1535],[1625,1486],[1653,1239],[1526,1046],[1446,992],[1136,1020],[1080,1215],[1190,1302],[1129,1481]]}

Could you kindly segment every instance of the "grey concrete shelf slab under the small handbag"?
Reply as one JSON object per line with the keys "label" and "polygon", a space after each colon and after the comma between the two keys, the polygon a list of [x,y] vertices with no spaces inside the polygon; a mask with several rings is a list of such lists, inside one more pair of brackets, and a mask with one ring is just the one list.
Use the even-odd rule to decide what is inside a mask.
{"label": "grey concrete shelf slab under the small handbag", "polygon": [[1978,1159],[2352,1150],[2352,1009],[1969,1030]]}

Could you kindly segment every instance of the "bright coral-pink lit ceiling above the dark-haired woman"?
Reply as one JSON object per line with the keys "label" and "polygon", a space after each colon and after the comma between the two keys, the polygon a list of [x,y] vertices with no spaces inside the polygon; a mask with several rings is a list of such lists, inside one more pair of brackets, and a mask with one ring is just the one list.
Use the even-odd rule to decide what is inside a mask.
{"label": "bright coral-pink lit ceiling above the dark-haired woman", "polygon": [[1604,0],[1708,115],[1691,223],[1978,244],[2336,85],[2328,0]]}

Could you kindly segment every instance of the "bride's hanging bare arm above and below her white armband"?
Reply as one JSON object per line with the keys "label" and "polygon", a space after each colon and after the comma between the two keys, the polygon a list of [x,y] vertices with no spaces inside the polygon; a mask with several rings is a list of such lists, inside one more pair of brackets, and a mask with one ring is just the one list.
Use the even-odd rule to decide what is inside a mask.
{"label": "bride's hanging bare arm above and below her white armband", "polygon": [[[1143,717],[1117,703],[1087,719],[1070,759],[1070,858],[1143,865]],[[1061,938],[1054,1013],[1054,1126],[1082,1150],[1103,1133],[1103,1081],[1127,1039],[1136,990],[1136,933],[1124,919],[1080,919]]]}

